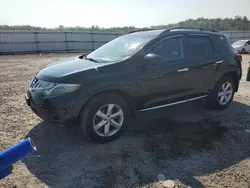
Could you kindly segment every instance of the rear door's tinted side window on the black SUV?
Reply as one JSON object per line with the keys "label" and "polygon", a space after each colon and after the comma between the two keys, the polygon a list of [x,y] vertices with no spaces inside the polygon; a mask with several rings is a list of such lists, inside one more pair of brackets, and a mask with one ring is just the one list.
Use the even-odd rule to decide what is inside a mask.
{"label": "rear door's tinted side window on the black SUV", "polygon": [[213,52],[214,46],[208,37],[188,37],[188,53],[190,57],[208,57]]}

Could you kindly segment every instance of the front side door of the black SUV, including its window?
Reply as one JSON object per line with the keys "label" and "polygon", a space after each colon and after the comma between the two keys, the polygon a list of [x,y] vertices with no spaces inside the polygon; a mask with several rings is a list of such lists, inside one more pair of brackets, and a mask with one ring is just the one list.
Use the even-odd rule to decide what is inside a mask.
{"label": "front side door of the black SUV, including its window", "polygon": [[155,109],[188,98],[190,88],[185,58],[185,38],[168,37],[155,44],[148,53],[161,57],[157,62],[146,62],[137,74],[141,111]]}

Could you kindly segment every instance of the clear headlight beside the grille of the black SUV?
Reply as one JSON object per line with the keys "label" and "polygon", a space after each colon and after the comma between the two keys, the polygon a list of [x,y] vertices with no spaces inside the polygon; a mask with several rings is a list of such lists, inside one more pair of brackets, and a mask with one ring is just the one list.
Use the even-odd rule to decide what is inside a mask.
{"label": "clear headlight beside the grille of the black SUV", "polygon": [[45,89],[43,92],[45,95],[61,95],[64,93],[70,93],[80,88],[80,84],[57,84],[51,89]]}

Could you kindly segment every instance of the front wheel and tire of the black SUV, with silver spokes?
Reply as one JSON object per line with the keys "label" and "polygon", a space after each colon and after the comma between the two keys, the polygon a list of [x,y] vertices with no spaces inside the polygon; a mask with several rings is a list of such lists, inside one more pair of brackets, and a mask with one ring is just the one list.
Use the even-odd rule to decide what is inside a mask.
{"label": "front wheel and tire of the black SUV, with silver spokes", "polygon": [[123,98],[101,94],[92,98],[80,113],[80,125],[87,138],[98,142],[116,139],[127,127],[129,110]]}

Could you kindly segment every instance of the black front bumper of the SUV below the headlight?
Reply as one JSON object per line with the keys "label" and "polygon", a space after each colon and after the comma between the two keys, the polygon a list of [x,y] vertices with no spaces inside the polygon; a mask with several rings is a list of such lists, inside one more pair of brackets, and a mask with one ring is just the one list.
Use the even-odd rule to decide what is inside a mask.
{"label": "black front bumper of the SUV below the headlight", "polygon": [[41,119],[67,124],[77,120],[85,100],[77,100],[77,93],[45,97],[39,92],[28,91],[25,100],[31,110]]}

